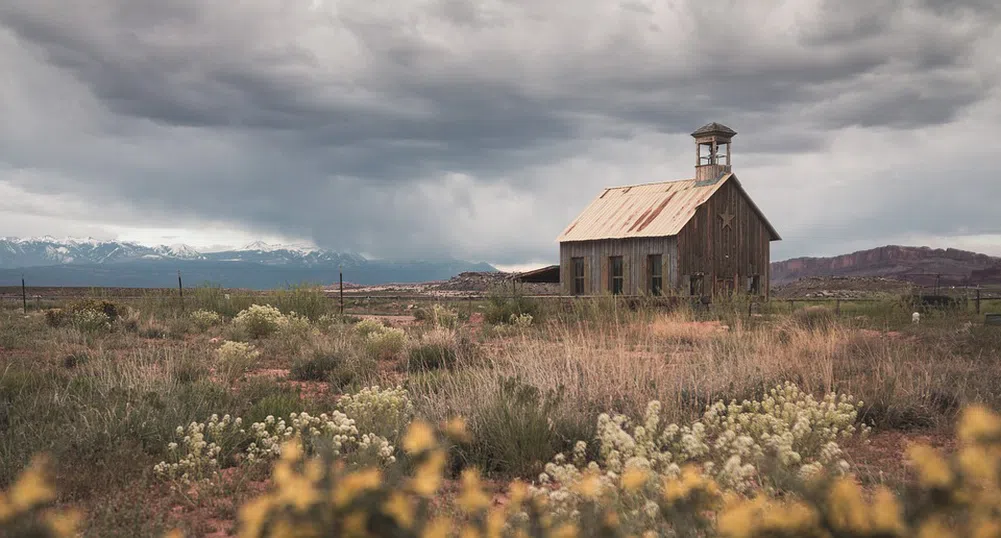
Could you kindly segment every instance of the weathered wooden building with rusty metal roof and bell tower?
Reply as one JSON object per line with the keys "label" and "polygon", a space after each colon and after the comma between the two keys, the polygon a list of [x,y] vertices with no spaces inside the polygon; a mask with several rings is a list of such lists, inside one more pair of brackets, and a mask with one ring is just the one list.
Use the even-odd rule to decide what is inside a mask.
{"label": "weathered wooden building with rusty metal roof and bell tower", "polygon": [[603,190],[558,237],[566,295],[768,298],[780,240],[731,165],[736,131],[692,133],[695,177]]}

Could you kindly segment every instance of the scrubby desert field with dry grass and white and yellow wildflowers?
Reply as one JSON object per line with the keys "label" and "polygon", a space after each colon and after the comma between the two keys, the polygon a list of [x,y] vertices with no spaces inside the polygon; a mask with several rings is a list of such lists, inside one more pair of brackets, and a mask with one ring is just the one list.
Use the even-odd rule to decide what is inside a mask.
{"label": "scrubby desert field with dry grass and white and yellow wildflowers", "polygon": [[1001,531],[969,305],[366,293],[0,302],[0,534]]}

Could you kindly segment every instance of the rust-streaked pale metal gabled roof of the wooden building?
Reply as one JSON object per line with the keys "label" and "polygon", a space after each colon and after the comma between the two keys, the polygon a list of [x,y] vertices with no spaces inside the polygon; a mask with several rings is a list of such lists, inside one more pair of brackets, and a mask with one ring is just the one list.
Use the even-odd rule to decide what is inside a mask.
{"label": "rust-streaked pale metal gabled roof of the wooden building", "polygon": [[748,198],[751,207],[768,226],[773,240],[781,238],[731,172],[713,181],[680,179],[606,188],[564,229],[557,240],[676,235],[695,216],[699,206],[727,181],[734,181]]}

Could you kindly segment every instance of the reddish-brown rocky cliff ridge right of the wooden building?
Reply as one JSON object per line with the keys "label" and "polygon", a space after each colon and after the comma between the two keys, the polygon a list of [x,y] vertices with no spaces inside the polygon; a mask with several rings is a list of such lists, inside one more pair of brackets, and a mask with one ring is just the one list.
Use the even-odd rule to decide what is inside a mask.
{"label": "reddish-brown rocky cliff ridge right of the wooden building", "polygon": [[[941,278],[936,276],[940,275]],[[772,263],[772,285],[814,277],[886,277],[922,286],[1001,284],[1001,257],[957,248],[887,245],[832,257]]]}

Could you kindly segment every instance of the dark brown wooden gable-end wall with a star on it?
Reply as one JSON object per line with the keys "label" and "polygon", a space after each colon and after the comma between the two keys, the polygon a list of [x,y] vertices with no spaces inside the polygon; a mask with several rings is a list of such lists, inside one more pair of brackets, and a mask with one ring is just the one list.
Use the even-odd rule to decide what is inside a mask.
{"label": "dark brown wooden gable-end wall with a star on it", "polygon": [[728,181],[678,234],[679,286],[687,290],[689,277],[703,273],[706,294],[723,292],[730,283],[744,293],[748,278],[758,275],[760,295],[768,297],[770,239],[768,226]]}

